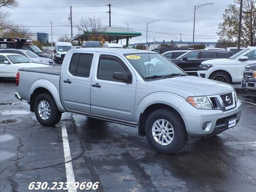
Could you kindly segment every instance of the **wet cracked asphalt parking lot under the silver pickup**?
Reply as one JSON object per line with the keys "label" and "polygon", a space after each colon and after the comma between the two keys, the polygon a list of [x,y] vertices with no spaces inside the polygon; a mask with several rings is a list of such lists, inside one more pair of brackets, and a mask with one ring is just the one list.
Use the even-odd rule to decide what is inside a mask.
{"label": "wet cracked asphalt parking lot under the silver pickup", "polygon": [[15,81],[2,80],[0,191],[27,192],[30,182],[66,182],[67,163],[76,182],[99,182],[100,192],[256,191],[256,102],[236,87],[244,102],[235,128],[164,155],[129,126],[64,113],[56,126],[44,127],[26,102],[14,98]]}

